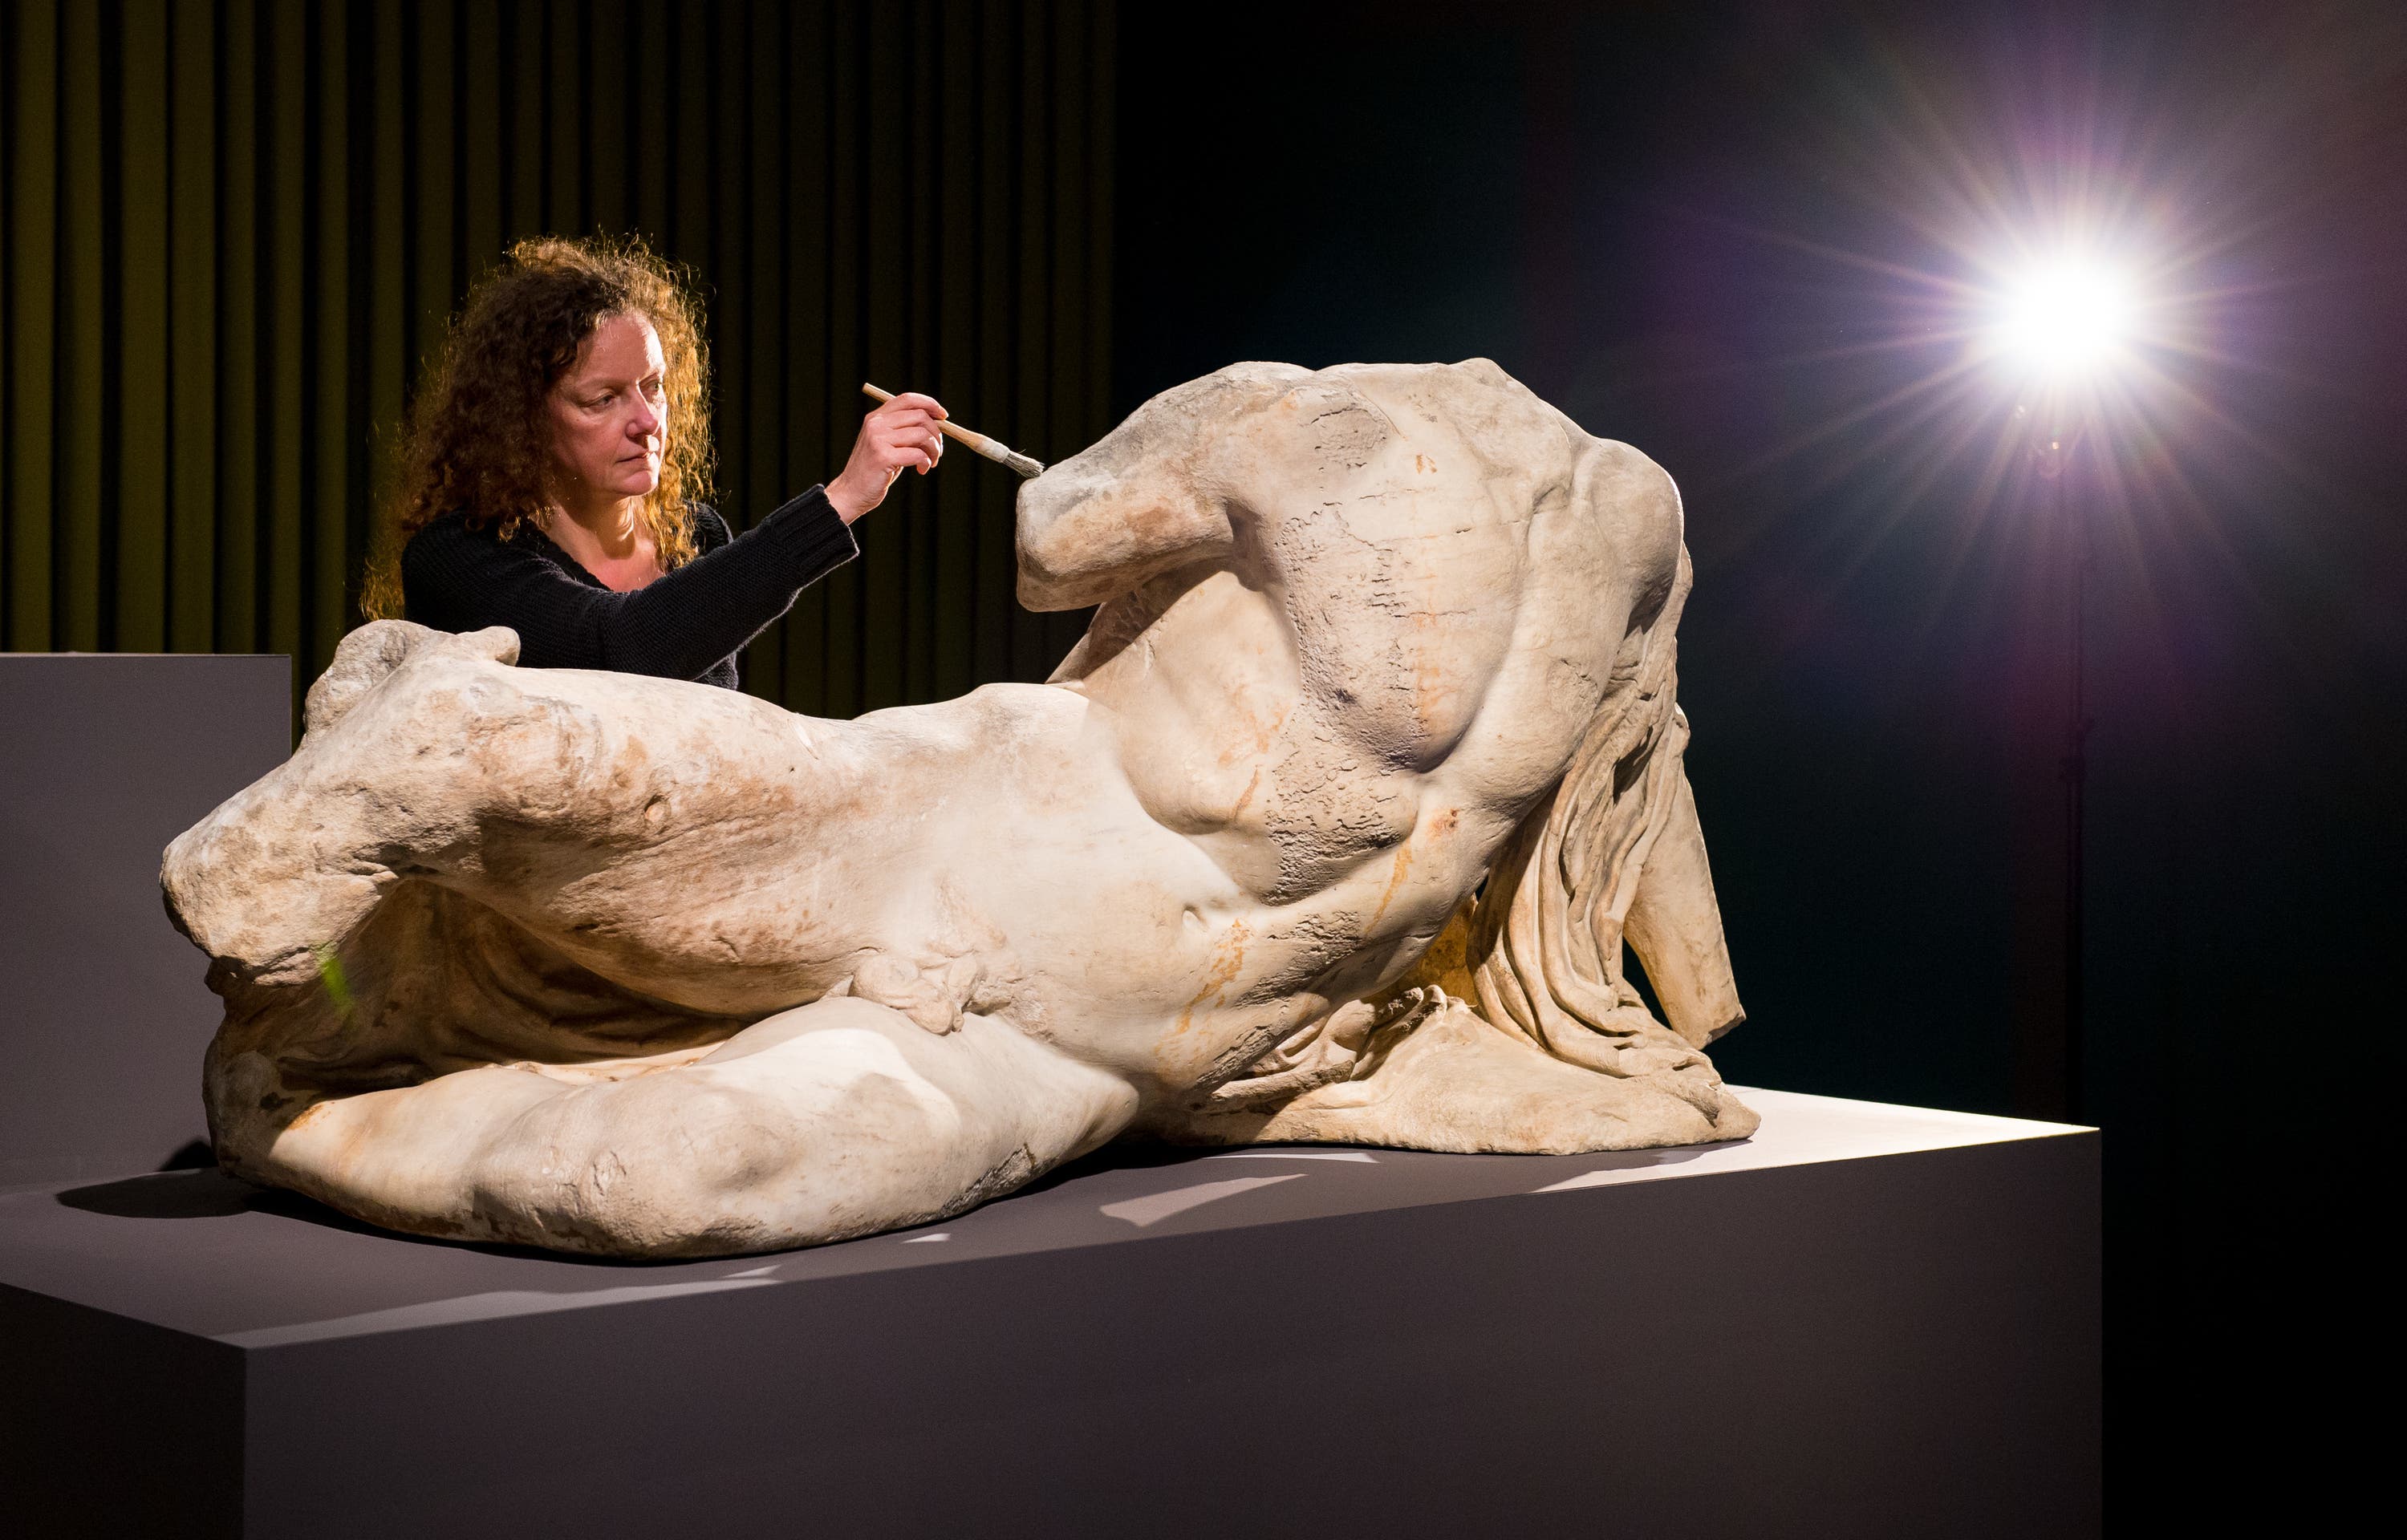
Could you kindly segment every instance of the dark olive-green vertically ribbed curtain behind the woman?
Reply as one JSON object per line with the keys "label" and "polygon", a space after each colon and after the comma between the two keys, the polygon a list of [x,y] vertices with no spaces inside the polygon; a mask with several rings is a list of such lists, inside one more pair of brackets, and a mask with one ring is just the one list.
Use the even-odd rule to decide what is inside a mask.
{"label": "dark olive-green vertically ribbed curtain behind the woman", "polygon": [[[5,0],[0,640],[291,652],[359,623],[402,404],[520,236],[700,279],[737,527],[862,380],[1052,460],[1107,411],[1107,0]],[[1016,479],[953,455],[746,654],[850,715],[1028,679]]]}

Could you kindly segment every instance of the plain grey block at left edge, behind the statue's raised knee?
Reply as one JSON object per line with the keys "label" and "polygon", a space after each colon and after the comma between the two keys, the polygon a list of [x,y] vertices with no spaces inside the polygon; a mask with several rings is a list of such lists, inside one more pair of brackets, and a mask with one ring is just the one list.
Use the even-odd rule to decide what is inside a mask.
{"label": "plain grey block at left edge, behind the statue's raised knee", "polygon": [[209,960],[159,852],[291,753],[282,654],[0,652],[0,1186],[202,1138]]}

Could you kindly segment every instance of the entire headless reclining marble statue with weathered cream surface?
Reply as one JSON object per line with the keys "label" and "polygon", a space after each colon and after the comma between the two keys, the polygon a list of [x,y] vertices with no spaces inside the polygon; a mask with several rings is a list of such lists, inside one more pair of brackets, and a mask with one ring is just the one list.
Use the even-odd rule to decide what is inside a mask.
{"label": "entire headless reclining marble statue with weathered cream surface", "polygon": [[[1740,1138],[1680,498],[1488,361],[1240,363],[1021,491],[1042,686],[854,722],[385,621],[166,852],[236,1172],[703,1256],[1114,1136]],[[1668,1025],[1622,977],[1637,950]]]}

